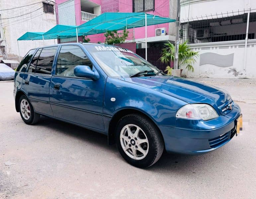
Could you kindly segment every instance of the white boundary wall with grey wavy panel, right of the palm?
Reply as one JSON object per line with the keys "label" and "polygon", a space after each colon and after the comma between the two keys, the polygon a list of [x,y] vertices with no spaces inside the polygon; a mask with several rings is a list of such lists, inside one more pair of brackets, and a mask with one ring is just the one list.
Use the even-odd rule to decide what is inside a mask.
{"label": "white boundary wall with grey wavy panel, right of the palm", "polygon": [[246,48],[244,40],[196,43],[191,48],[199,57],[189,77],[256,78],[256,39],[248,40]]}

